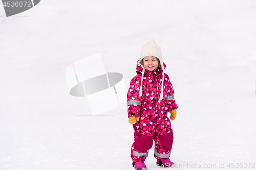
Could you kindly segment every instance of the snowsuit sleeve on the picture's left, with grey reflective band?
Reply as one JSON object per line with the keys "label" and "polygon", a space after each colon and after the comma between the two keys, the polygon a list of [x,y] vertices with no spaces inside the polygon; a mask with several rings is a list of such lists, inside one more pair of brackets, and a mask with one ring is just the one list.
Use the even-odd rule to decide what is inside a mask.
{"label": "snowsuit sleeve on the picture's left, with grey reflective band", "polygon": [[130,83],[130,88],[127,93],[127,109],[128,117],[140,115],[140,107],[142,97],[139,97],[141,75],[135,76]]}

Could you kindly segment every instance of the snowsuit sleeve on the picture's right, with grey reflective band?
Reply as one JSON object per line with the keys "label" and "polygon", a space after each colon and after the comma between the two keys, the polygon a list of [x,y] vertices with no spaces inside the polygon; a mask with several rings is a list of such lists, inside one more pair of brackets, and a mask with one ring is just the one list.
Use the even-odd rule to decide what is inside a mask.
{"label": "snowsuit sleeve on the picture's right, with grey reflective band", "polygon": [[170,83],[169,77],[167,74],[165,74],[165,77],[167,78],[167,96],[165,99],[165,107],[167,107],[167,111],[172,111],[174,109],[178,108],[178,105],[175,103],[174,99],[174,89],[172,83]]}

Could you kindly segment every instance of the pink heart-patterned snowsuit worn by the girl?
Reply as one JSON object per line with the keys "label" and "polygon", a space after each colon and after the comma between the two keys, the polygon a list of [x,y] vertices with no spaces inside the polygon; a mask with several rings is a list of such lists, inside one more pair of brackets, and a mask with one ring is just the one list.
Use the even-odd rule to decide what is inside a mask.
{"label": "pink heart-patterned snowsuit worn by the girl", "polygon": [[[168,75],[164,74],[163,99],[159,101],[163,70],[145,70],[142,81],[143,92],[139,97],[143,68],[138,61],[137,76],[131,80],[127,93],[128,117],[140,117],[133,125],[135,132],[131,157],[134,162],[145,161],[148,150],[152,148],[155,140],[155,158],[163,160],[170,156],[173,145],[173,130],[167,117],[167,112],[178,107],[174,100],[173,86]],[[166,65],[164,63],[163,65],[165,68]]]}

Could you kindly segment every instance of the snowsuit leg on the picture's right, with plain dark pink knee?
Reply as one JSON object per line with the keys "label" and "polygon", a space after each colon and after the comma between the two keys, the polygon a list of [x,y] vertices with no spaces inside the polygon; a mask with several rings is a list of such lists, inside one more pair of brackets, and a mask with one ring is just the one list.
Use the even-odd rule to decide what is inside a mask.
{"label": "snowsuit leg on the picture's right, with plain dark pink knee", "polygon": [[[164,122],[162,124],[164,124]],[[162,124],[160,123],[156,126],[156,131],[154,133],[154,157],[160,161],[170,157],[170,152],[172,151],[174,140],[173,129],[171,128],[170,124],[167,127],[163,127]]]}

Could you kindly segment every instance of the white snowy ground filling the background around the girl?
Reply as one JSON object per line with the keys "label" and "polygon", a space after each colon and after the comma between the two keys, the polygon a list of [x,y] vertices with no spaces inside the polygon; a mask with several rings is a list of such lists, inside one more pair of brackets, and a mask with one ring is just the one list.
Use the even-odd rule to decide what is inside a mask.
{"label": "white snowy ground filling the background around the girl", "polygon": [[[100,53],[128,89],[150,38],[179,106],[171,160],[256,163],[256,1],[42,0],[10,17],[0,5],[0,169],[134,169],[126,103],[91,116],[65,71]],[[145,163],[159,169],[154,149]]]}

